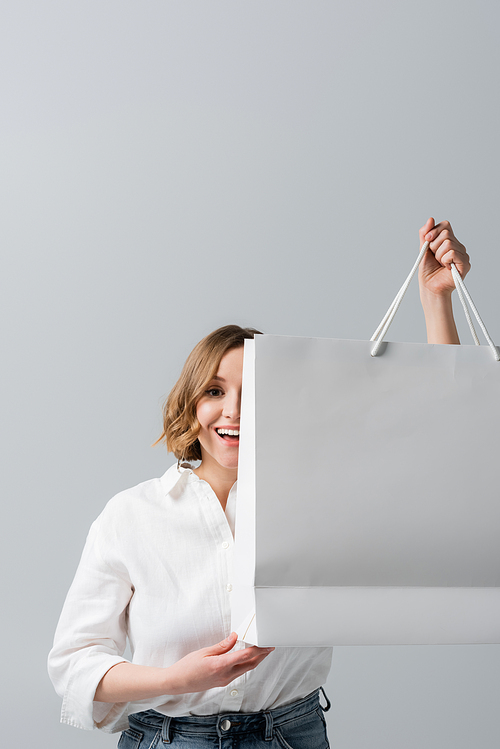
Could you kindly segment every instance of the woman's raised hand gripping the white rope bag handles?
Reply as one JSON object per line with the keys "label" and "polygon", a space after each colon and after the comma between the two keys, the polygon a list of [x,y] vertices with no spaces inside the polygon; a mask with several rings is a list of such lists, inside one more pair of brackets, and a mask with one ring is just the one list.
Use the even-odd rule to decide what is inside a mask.
{"label": "woman's raised hand gripping the white rope bag handles", "polygon": [[419,268],[420,290],[424,294],[436,296],[450,296],[455,288],[451,275],[451,263],[455,263],[457,270],[464,278],[470,270],[469,256],[463,244],[453,233],[449,221],[439,224],[429,218],[419,231],[420,246],[429,242],[429,250],[425,253]]}

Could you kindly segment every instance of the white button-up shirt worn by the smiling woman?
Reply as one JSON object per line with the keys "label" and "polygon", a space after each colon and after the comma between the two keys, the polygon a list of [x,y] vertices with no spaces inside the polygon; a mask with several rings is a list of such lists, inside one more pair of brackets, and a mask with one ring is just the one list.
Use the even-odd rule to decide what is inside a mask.
{"label": "white button-up shirt worn by the smiling woman", "polygon": [[224,513],[209,484],[177,466],[108,502],[90,529],[49,655],[63,723],[113,733],[128,728],[130,713],[151,708],[174,717],[256,712],[325,682],[331,648],[277,648],[227,687],[94,701],[106,671],[126,660],[127,637],[132,663],[166,667],[228,636],[235,508],[236,485]]}

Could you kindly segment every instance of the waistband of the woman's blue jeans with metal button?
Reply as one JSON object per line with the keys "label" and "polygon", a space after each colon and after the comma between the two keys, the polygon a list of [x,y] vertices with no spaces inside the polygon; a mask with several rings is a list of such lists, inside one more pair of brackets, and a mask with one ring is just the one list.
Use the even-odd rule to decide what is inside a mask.
{"label": "waistband of the woman's blue jeans with metal button", "polygon": [[[324,691],[321,690],[324,694]],[[312,692],[307,697],[292,702],[289,705],[274,710],[261,710],[258,713],[220,713],[217,715],[186,715],[178,718],[165,716],[156,710],[145,710],[129,716],[134,724],[146,724],[152,728],[161,729],[163,743],[169,744],[174,733],[205,734],[227,736],[254,731],[263,731],[264,737],[272,739],[273,726],[280,726],[291,720],[296,720],[318,708],[328,710],[330,703],[325,695],[327,705],[322,708],[319,701],[320,690]]]}

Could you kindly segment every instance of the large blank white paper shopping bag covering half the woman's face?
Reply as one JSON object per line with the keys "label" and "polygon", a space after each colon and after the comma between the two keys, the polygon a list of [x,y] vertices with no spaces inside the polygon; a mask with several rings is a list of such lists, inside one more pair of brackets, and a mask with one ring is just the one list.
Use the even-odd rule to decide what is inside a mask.
{"label": "large blank white paper shopping bag covering half the woman's face", "polygon": [[232,626],[258,645],[500,642],[488,346],[245,342]]}

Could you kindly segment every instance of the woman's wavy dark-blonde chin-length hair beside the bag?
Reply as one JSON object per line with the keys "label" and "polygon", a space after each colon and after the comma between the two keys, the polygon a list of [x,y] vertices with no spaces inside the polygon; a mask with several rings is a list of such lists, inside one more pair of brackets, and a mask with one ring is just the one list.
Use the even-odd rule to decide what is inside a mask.
{"label": "woman's wavy dark-blonde chin-length hair beside the bag", "polygon": [[217,374],[222,357],[231,349],[243,346],[245,339],[260,334],[255,328],[224,325],[196,344],[186,359],[181,376],[163,406],[163,434],[167,450],[177,460],[201,460],[198,441],[200,424],[196,406],[210,381]]}

